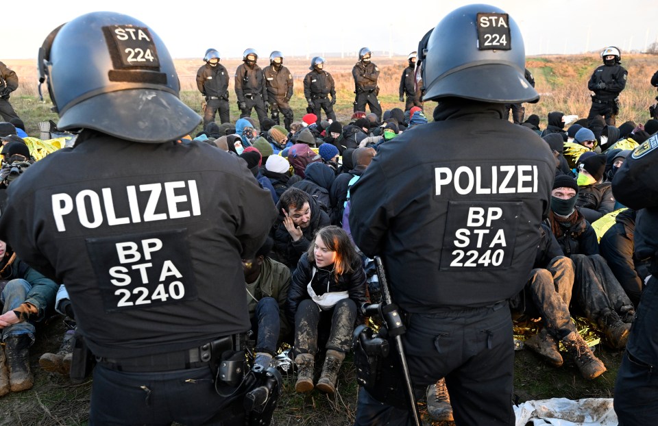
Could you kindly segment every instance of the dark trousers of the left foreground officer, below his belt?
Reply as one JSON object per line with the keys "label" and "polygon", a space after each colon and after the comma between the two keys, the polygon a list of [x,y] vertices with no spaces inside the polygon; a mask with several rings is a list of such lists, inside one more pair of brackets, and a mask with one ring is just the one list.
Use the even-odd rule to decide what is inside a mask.
{"label": "dark trousers of the left foreground officer, below his belt", "polygon": [[242,404],[243,398],[227,401],[215,392],[208,367],[124,373],[97,364],[89,425],[243,426]]}

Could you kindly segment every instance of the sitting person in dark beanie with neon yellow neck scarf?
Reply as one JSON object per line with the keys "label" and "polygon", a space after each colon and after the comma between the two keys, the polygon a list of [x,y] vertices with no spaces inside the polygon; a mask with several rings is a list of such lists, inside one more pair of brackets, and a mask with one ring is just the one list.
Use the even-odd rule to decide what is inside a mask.
{"label": "sitting person in dark beanie with neon yellow neck scarf", "polygon": [[588,156],[578,164],[578,201],[576,208],[589,223],[594,223],[615,208],[612,186],[604,179],[605,154]]}

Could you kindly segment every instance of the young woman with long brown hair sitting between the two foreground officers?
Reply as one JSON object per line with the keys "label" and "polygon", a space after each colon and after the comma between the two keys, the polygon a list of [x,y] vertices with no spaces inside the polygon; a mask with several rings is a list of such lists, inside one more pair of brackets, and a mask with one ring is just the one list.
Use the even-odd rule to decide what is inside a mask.
{"label": "young woman with long brown hair sitting between the two foreground officers", "polygon": [[315,355],[328,331],[326,358],[317,388],[334,393],[345,353],[352,347],[355,323],[363,321],[367,301],[365,272],[343,229],[320,229],[293,273],[288,292],[288,321],[295,324],[297,392],[314,387]]}

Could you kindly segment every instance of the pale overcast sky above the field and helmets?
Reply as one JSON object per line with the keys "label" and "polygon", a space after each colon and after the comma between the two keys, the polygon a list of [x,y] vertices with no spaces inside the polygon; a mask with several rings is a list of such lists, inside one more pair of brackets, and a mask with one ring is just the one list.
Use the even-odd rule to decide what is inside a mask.
{"label": "pale overcast sky above the field and helmets", "polygon": [[[0,60],[36,58],[47,34],[61,23],[97,10],[143,21],[173,58],[202,58],[217,49],[240,58],[247,47],[261,57],[345,53],[361,47],[407,55],[464,0],[284,1],[19,0],[3,8]],[[642,51],[658,39],[657,3],[650,0],[496,0],[521,27],[527,55],[582,53],[614,45]],[[174,4],[175,8],[170,8]],[[260,6],[260,8],[258,8]],[[252,8],[252,10],[249,10]]]}

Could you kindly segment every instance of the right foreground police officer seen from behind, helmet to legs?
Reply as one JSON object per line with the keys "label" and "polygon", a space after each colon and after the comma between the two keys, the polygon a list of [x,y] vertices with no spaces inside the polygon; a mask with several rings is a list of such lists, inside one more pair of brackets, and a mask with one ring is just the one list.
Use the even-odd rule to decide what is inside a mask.
{"label": "right foreground police officer seen from behind, helmet to legs", "polygon": [[[423,60],[435,122],[380,146],[351,188],[350,229],[388,269],[413,385],[446,377],[456,425],[514,425],[507,299],[533,266],[555,160],[502,117],[504,104],[539,95],[524,83],[519,27],[490,5],[443,18]],[[411,414],[361,388],[356,425],[384,419],[406,425]]]}

